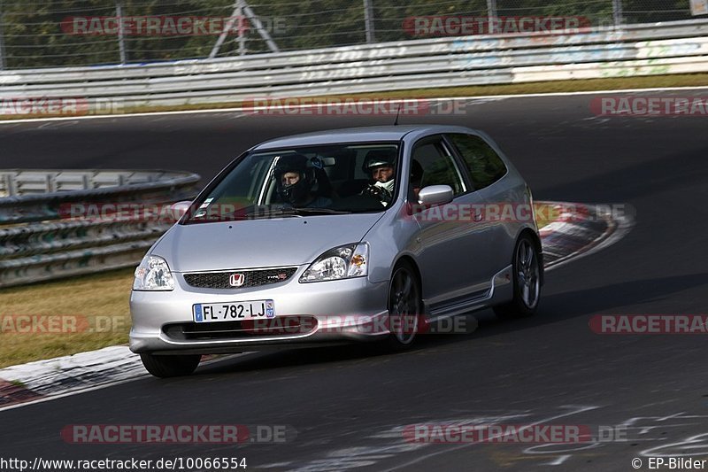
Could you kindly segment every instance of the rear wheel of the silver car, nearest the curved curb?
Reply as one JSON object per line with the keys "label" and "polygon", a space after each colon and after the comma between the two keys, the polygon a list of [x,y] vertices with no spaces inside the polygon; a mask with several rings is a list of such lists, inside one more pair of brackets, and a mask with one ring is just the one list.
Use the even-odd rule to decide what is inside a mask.
{"label": "rear wheel of the silver car, nearest the curved curb", "polygon": [[525,318],[538,310],[541,299],[541,255],[531,236],[521,235],[512,255],[513,298],[494,307],[500,318]]}

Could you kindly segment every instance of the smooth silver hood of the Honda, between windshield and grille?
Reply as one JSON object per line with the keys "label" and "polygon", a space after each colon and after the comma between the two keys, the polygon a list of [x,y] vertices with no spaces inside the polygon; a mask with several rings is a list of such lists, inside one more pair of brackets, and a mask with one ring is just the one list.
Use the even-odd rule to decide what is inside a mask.
{"label": "smooth silver hood of the Honda, between windshield and grille", "polygon": [[321,215],[174,225],[151,251],[173,272],[309,264],[358,243],[383,213]]}

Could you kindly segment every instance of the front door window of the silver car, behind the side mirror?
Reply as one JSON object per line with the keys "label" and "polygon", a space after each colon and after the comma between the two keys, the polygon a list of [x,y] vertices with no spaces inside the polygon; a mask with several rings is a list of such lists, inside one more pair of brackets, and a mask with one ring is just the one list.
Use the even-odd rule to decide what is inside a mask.
{"label": "front door window of the silver car, behind the side mirror", "polygon": [[428,185],[450,185],[456,196],[466,191],[458,166],[441,138],[424,139],[416,143],[412,153],[411,174],[412,185],[418,184],[419,189]]}

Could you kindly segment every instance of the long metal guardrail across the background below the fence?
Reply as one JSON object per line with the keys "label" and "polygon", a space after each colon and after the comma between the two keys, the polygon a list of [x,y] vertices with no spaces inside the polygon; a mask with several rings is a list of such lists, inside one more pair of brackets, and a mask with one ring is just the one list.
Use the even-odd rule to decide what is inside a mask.
{"label": "long metal guardrail across the background below the fence", "polygon": [[[130,66],[0,73],[0,99],[123,107],[708,71],[708,19],[576,34],[477,35]],[[90,103],[91,99],[98,100]],[[1,112],[1,111],[0,111]]]}

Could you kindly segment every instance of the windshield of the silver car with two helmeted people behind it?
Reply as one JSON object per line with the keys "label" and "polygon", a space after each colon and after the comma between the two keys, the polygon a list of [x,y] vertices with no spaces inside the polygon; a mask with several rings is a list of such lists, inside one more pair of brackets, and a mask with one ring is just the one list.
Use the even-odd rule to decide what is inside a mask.
{"label": "windshield of the silver car with two helmeted people behind it", "polygon": [[398,143],[252,151],[189,209],[185,223],[381,212],[396,197]]}

